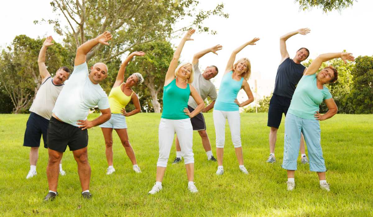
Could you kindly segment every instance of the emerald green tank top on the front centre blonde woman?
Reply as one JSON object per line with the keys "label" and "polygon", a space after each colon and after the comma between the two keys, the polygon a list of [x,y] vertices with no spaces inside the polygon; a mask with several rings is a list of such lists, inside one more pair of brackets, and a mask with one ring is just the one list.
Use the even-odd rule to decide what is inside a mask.
{"label": "emerald green tank top on the front centre blonde woman", "polygon": [[176,86],[176,79],[173,79],[171,83],[164,86],[161,118],[173,120],[189,118],[184,112],[184,108],[188,108],[189,95],[189,84],[186,84],[186,88],[182,89]]}

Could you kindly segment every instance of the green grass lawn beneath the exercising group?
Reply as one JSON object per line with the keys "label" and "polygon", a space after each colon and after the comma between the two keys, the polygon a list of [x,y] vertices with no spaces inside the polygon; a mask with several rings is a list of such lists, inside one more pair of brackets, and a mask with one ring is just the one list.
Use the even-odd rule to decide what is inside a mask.
{"label": "green grass lawn beneath the exercising group", "polygon": [[[319,189],[316,173],[310,172],[308,165],[300,165],[300,160],[295,173],[297,187],[287,192],[286,171],[280,167],[283,122],[278,132],[277,162],[270,165],[265,163],[269,154],[267,114],[241,114],[242,146],[249,175],[238,170],[228,127],[225,173],[219,177],[215,175],[217,163],[207,162],[201,139],[194,132],[195,182],[199,192],[187,191],[184,163],[170,164],[175,157],[173,146],[163,190],[147,195],[155,182],[160,115],[142,113],[127,118],[130,142],[142,173],[132,170],[114,132],[116,172],[105,175],[104,139],[100,128],[94,127],[88,130],[93,200],[81,198],[76,162],[66,151],[66,176],[59,177],[59,197],[47,203],[42,202],[48,191],[46,149],[39,151],[38,175],[25,179],[29,148],[22,144],[27,118],[28,115],[0,115],[1,216],[373,216],[373,115],[335,115],[320,122],[330,192]],[[205,118],[214,144],[212,114],[205,114]],[[216,154],[215,146],[212,148]]]}

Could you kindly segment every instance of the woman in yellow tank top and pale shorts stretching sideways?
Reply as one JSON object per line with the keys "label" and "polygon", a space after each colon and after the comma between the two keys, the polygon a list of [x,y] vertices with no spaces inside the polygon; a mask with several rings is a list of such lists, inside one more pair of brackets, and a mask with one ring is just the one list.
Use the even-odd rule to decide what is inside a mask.
{"label": "woman in yellow tank top and pale shorts stretching sideways", "polygon": [[[129,144],[128,141],[128,133],[127,133],[127,124],[125,117],[135,115],[141,111],[140,109],[140,101],[137,97],[137,94],[131,89],[133,86],[141,84],[144,79],[142,78],[140,73],[134,73],[128,77],[125,83],[124,82],[124,73],[126,70],[126,66],[128,65],[129,61],[134,56],[143,56],[145,55],[144,52],[132,52],[126,60],[120,65],[118,75],[116,77],[115,83],[113,85],[112,90],[109,93],[109,104],[110,109],[112,111],[112,117],[109,121],[100,125],[102,133],[104,134],[105,138],[105,153],[107,164],[109,167],[106,170],[106,174],[110,175],[115,172],[113,167],[113,129],[117,132],[120,141],[122,142],[123,147],[126,150],[127,156],[132,162],[133,169],[135,172],[140,173],[140,167],[137,165],[135,152]],[[126,112],[125,107],[131,101],[135,105],[135,109],[131,112]]]}

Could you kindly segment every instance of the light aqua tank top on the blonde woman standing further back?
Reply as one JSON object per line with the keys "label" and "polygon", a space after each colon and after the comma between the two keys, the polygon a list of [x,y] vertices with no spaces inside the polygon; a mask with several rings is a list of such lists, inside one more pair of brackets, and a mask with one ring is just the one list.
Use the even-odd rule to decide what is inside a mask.
{"label": "light aqua tank top on the blonde woman standing further back", "polygon": [[219,111],[239,111],[239,107],[234,100],[237,98],[238,91],[242,87],[242,82],[244,77],[241,77],[241,80],[236,81],[232,79],[233,71],[225,74],[223,76],[222,82],[219,87],[219,94],[215,101],[214,109]]}

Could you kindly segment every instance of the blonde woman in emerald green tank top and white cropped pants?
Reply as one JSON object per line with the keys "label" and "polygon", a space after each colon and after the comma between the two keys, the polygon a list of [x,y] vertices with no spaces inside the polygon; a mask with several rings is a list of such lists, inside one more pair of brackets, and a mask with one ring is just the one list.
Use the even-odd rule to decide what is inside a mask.
{"label": "blonde woman in emerald green tank top and white cropped pants", "polygon": [[[194,79],[194,70],[191,63],[182,63],[178,66],[180,53],[186,41],[193,40],[191,35],[194,29],[189,30],[182,38],[178,48],[173,54],[172,61],[166,73],[163,87],[163,112],[159,123],[159,157],[157,162],[156,183],[149,194],[156,194],[162,190],[162,181],[166,171],[167,161],[175,133],[179,138],[182,155],[184,157],[186,175],[188,176],[188,190],[198,192],[194,185],[194,155],[193,155],[193,128],[190,118],[194,117],[204,108],[204,102],[197,90],[191,85]],[[189,96],[198,104],[193,112],[188,110]]]}

